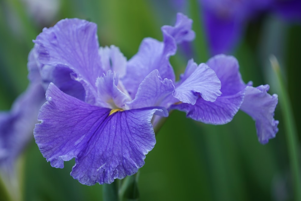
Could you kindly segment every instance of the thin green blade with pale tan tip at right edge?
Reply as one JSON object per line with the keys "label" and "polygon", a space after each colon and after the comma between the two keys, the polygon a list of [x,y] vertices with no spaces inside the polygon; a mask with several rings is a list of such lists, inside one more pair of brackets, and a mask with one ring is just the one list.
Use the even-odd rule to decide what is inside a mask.
{"label": "thin green blade with pale tan tip at right edge", "polygon": [[290,159],[290,169],[292,174],[295,200],[301,201],[301,177],[300,177],[300,163],[298,152],[298,139],[295,120],[293,118],[292,107],[290,105],[289,95],[284,86],[283,77],[281,76],[279,63],[274,55],[270,56],[272,68],[276,74],[278,88],[279,88],[279,102],[281,103],[281,110],[283,115],[284,127],[286,131],[288,154]]}

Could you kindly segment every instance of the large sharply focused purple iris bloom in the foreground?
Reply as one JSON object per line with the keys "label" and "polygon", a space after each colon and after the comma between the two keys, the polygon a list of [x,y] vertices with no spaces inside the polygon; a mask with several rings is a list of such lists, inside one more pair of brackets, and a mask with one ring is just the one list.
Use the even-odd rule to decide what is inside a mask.
{"label": "large sharply focused purple iris bloom in the foreground", "polygon": [[[175,26],[162,27],[163,42],[144,39],[127,61],[117,47],[99,47],[94,23],[61,20],[34,41],[28,68],[30,86],[37,89],[27,90],[24,100],[30,101],[20,101],[12,113],[36,114],[22,113],[18,105],[39,108],[45,98],[36,97],[47,89],[41,123],[34,129],[36,143],[53,167],[63,168],[64,161],[75,158],[71,176],[86,185],[135,174],[156,143],[153,127],[172,109],[210,124],[225,124],[241,109],[256,121],[259,141],[267,143],[278,131],[277,95],[267,93],[268,85],[244,84],[235,58],[218,55],[200,65],[191,59],[175,81],[169,57],[177,44],[194,39],[191,24],[178,14]],[[15,140],[3,134],[8,127],[1,128],[1,146]]]}

